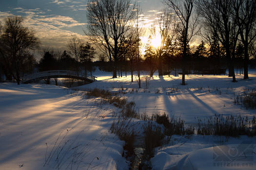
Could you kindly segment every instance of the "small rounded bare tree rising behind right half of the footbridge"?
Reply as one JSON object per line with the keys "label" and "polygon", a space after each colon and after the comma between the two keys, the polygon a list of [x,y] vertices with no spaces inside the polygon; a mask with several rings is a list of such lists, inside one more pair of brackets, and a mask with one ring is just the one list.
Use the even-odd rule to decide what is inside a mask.
{"label": "small rounded bare tree rising behind right half of the footbridge", "polygon": [[75,34],[71,34],[71,37],[68,39],[67,47],[71,56],[76,60],[77,71],[79,71],[80,56],[84,44],[85,42]]}

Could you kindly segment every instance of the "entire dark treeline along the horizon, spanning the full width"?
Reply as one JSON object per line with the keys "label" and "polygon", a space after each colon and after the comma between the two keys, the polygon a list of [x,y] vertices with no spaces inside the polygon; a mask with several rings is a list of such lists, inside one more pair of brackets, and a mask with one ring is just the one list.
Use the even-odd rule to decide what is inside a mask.
{"label": "entire dark treeline along the horizon, spanning the full width", "polygon": [[[0,27],[0,69],[8,80],[18,84],[23,74],[52,69],[71,69],[92,74],[93,66],[137,75],[142,70],[152,77],[182,74],[224,74],[226,68],[236,82],[235,70],[248,79],[248,66],[256,58],[256,0],[163,0],[145,50],[146,19],[132,0],[89,0],[87,42],[71,35],[66,51],[45,50],[38,65],[31,54],[39,47],[34,32],[22,26],[22,18],[7,17]],[[195,35],[203,41],[192,47]],[[159,44],[156,44],[159,37]],[[100,62],[93,63],[98,53]],[[238,72],[237,72],[238,73]]]}

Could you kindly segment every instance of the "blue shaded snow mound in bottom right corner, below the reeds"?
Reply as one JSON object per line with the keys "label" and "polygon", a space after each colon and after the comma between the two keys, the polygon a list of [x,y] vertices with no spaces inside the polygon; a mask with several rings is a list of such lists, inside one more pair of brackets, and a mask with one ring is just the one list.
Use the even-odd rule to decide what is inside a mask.
{"label": "blue shaded snow mound in bottom right corner, below the reeds", "polygon": [[255,137],[172,136],[151,159],[154,170],[255,170]]}

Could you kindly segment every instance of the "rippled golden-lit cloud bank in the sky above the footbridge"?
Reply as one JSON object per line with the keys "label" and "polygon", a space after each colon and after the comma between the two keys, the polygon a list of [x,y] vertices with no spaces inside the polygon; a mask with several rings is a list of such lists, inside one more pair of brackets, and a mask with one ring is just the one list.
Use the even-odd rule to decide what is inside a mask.
{"label": "rippled golden-lit cloud bank in the sky above the footbridge", "polygon": [[[79,23],[72,17],[41,15],[39,13],[42,11],[19,10],[17,12],[24,17],[23,25],[35,31],[35,35],[39,37],[42,48],[52,47],[64,49],[70,35],[76,34],[64,28],[86,25],[86,23]],[[0,22],[4,23],[4,19],[9,16],[14,15],[11,12],[0,12]],[[76,35],[84,37],[80,34]]]}

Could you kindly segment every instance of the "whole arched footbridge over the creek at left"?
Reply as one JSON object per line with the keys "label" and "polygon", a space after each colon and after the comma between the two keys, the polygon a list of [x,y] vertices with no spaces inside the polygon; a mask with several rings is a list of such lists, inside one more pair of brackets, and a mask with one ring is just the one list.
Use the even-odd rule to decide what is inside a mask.
{"label": "whole arched footbridge over the creek at left", "polygon": [[24,84],[36,82],[42,79],[50,79],[50,78],[73,78],[78,80],[83,80],[88,83],[92,83],[96,81],[95,76],[84,74],[77,71],[70,71],[70,70],[50,70],[50,71],[42,71],[34,74],[30,74],[24,76],[22,82]]}

